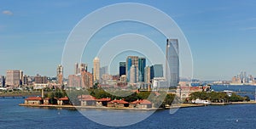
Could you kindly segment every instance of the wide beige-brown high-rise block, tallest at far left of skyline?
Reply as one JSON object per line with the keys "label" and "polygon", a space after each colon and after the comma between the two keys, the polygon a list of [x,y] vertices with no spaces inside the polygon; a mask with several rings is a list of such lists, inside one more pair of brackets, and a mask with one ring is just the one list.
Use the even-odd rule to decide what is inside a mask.
{"label": "wide beige-brown high-rise block, tallest at far left of skyline", "polygon": [[21,70],[7,70],[6,71],[6,86],[18,87],[22,82],[23,72]]}

